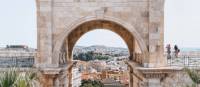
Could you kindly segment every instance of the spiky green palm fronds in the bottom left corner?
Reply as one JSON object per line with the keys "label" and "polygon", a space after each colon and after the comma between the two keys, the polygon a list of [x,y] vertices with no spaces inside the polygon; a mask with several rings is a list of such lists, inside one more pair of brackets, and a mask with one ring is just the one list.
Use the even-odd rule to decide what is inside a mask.
{"label": "spiky green palm fronds in the bottom left corner", "polygon": [[36,84],[36,73],[20,73],[10,69],[0,74],[0,87],[33,87]]}

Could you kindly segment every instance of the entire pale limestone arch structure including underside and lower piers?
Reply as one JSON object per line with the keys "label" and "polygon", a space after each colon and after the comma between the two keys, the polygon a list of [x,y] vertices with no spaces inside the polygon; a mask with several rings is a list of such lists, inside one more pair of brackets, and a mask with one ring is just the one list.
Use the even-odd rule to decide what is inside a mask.
{"label": "entire pale limestone arch structure including underside and lower piers", "polygon": [[[72,50],[88,31],[120,35],[130,53],[130,87],[162,87],[173,68],[164,58],[164,0],[36,0],[41,87],[72,87]],[[163,68],[164,67],[164,68]]]}

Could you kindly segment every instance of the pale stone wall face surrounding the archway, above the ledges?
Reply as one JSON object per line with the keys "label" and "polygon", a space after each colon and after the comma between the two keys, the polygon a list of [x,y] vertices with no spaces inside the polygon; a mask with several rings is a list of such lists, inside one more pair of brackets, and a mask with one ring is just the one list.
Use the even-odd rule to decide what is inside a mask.
{"label": "pale stone wall face surrounding the archway, above the ledges", "polygon": [[63,44],[74,40],[67,38],[69,34],[81,24],[99,20],[114,22],[134,36],[145,67],[165,65],[164,0],[37,0],[37,14],[38,66],[58,67]]}

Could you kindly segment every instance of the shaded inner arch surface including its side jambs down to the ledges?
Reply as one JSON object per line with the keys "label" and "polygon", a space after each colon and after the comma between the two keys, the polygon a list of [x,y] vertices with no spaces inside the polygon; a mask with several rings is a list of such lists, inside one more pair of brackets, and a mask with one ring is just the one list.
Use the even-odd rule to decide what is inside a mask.
{"label": "shaded inner arch surface including its side jambs down to the ledges", "polygon": [[[64,60],[66,60],[67,62],[72,61],[72,51],[76,42],[82,35],[94,29],[106,29],[115,32],[126,43],[128,51],[130,53],[129,60],[136,61],[140,64],[143,63],[144,56],[142,56],[142,54],[144,55],[144,53],[143,50],[140,49],[141,45],[138,44],[138,40],[136,40],[133,33],[117,23],[105,20],[88,21],[72,30],[65,38],[65,41],[63,42],[63,46],[61,48],[61,53],[66,52],[65,54],[67,54],[65,56],[66,59]],[[141,54],[141,56],[139,56],[138,54]]]}

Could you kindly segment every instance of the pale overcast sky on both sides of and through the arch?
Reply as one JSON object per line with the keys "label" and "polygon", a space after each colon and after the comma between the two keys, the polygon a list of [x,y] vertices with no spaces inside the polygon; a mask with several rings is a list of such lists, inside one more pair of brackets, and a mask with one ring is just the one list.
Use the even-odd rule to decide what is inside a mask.
{"label": "pale overcast sky on both sides of and through the arch", "polygon": [[[35,0],[1,0],[1,47],[24,44],[36,48],[36,30]],[[200,47],[200,0],[166,0],[166,43],[178,44],[180,47]],[[117,34],[102,30],[86,33],[77,44],[126,47]]]}

